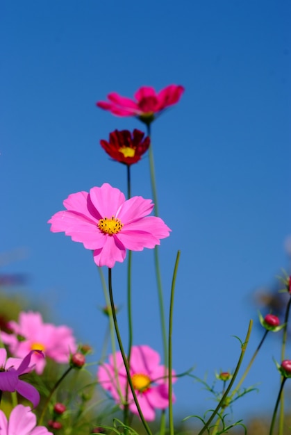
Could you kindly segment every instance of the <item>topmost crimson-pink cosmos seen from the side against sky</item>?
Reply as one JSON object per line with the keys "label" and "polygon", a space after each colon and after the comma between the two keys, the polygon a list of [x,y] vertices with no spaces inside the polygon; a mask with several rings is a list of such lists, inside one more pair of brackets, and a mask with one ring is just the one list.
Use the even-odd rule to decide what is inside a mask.
{"label": "topmost crimson-pink cosmos seen from the side against sky", "polygon": [[108,94],[109,101],[98,101],[97,106],[117,116],[137,116],[149,124],[165,108],[178,103],[184,92],[183,86],[169,85],[156,92],[150,86],[142,86],[135,92],[135,100],[122,97],[116,92]]}

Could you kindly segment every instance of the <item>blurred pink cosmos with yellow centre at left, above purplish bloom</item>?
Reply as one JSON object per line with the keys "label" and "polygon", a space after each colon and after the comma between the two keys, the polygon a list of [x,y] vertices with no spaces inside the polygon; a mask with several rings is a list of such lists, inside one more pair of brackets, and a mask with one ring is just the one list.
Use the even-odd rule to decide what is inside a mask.
{"label": "blurred pink cosmos with yellow centre at left, above purplish bloom", "polygon": [[[31,350],[41,350],[45,356],[57,363],[69,363],[70,352],[76,352],[77,345],[72,334],[72,329],[65,325],[55,326],[44,323],[40,313],[22,311],[19,313],[19,322],[11,320],[8,327],[13,334],[1,332],[3,343],[9,346],[11,354],[23,358]],[[18,340],[21,336],[22,340]],[[37,352],[31,356],[35,364],[35,371],[41,375],[46,361]]]}

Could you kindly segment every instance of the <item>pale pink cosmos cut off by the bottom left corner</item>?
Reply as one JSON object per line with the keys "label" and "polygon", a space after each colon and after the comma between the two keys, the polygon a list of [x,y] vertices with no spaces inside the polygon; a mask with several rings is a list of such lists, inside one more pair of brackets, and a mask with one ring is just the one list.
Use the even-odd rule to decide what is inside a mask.
{"label": "pale pink cosmos cut off by the bottom left corner", "polygon": [[35,425],[36,417],[29,407],[17,405],[11,411],[9,421],[0,411],[0,435],[53,435],[47,427]]}

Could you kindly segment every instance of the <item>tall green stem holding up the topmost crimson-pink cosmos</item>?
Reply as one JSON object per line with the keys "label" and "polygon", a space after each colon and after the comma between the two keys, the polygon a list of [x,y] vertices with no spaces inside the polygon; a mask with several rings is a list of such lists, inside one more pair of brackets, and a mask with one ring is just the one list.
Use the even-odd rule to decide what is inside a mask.
{"label": "tall green stem holding up the topmost crimson-pink cosmos", "polygon": [[[150,124],[147,124],[147,136],[149,136],[149,138],[151,139]],[[155,204],[154,213],[156,216],[158,216],[158,195],[156,190],[156,175],[155,175],[155,165],[153,161],[152,143],[149,147],[149,170],[151,174],[151,191],[153,193],[153,202]],[[160,309],[160,323],[162,329],[164,361],[165,361],[165,365],[167,365],[167,330],[166,330],[165,310],[164,310],[164,301],[163,301],[163,286],[162,286],[162,279],[160,275],[160,261],[158,256],[158,246],[154,248],[154,262],[155,262],[156,280],[158,286],[158,304]]]}

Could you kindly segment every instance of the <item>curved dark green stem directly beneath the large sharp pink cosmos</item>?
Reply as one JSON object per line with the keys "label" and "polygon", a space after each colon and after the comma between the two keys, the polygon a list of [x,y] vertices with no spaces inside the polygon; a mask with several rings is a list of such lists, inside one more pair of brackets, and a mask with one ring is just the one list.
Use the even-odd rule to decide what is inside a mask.
{"label": "curved dark green stem directly beneath the large sharp pink cosmos", "polygon": [[131,387],[131,393],[133,394],[133,400],[135,402],[135,406],[138,409],[138,414],[140,416],[140,420],[142,420],[142,425],[144,425],[144,429],[147,431],[148,435],[152,435],[151,434],[151,429],[149,429],[149,425],[147,424],[146,420],[144,420],[144,415],[142,413],[142,410],[140,409],[140,404],[138,403],[138,397],[135,394],[135,389],[133,387],[133,383],[131,381],[131,372],[128,366],[128,361],[126,359],[126,355],[124,353],[124,347],[122,345],[122,338],[119,334],[119,327],[118,327],[118,323],[117,323],[117,317],[116,317],[116,313],[115,313],[115,304],[114,304],[114,299],[113,299],[113,289],[112,289],[112,274],[111,274],[111,269],[108,268],[108,290],[109,290],[109,297],[110,297],[110,304],[111,304],[111,310],[113,313],[113,322],[114,322],[114,327],[115,327],[115,333],[117,336],[117,341],[119,344],[119,349],[120,352],[122,354],[122,360],[124,362],[124,367],[126,370],[126,376],[127,376],[127,381],[129,386]]}

